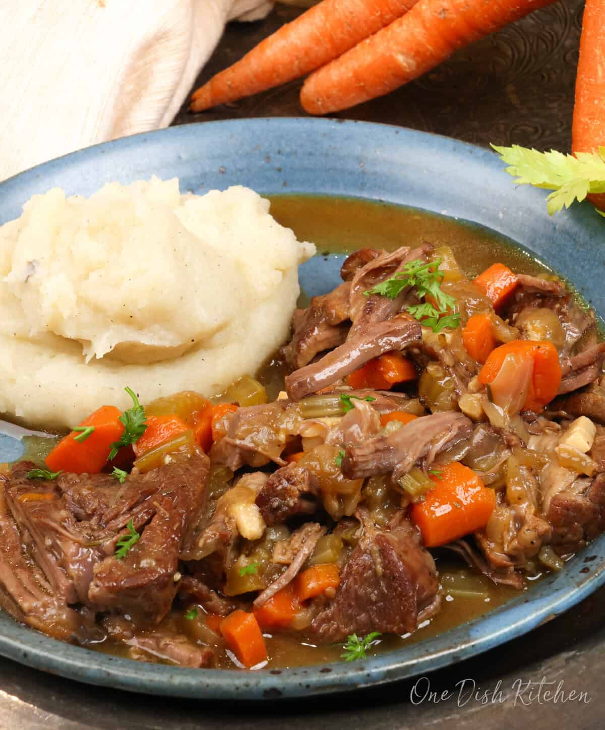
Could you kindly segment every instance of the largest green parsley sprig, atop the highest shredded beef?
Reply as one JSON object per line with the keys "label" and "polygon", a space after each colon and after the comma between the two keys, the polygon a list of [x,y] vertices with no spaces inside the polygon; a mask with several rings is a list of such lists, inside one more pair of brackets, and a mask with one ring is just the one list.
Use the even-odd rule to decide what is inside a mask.
{"label": "largest green parsley sprig, atop the highest shredded beef", "polygon": [[445,327],[458,327],[460,315],[451,314],[441,317],[447,310],[455,308],[456,300],[453,296],[442,291],[441,283],[444,272],[439,269],[441,259],[425,262],[421,258],[409,261],[401,272],[380,282],[376,286],[364,291],[366,296],[380,294],[389,299],[396,299],[404,289],[414,287],[418,299],[431,297],[431,301],[421,301],[420,304],[412,304],[406,310],[433,332],[440,332]]}

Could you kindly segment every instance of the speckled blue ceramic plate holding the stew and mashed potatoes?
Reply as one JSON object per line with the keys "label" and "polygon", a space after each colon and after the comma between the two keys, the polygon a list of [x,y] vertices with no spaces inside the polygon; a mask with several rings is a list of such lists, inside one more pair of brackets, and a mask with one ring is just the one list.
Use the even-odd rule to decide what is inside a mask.
{"label": "speckled blue ceramic plate holding the stew and mashed potatoes", "polygon": [[[0,223],[34,193],[60,185],[88,196],[104,183],[177,176],[181,190],[249,185],[260,193],[324,193],[412,205],[488,226],[536,254],[605,313],[603,220],[587,204],[549,218],[545,193],[516,189],[496,155],[452,139],[367,123],[256,119],[179,126],[67,155],[0,185]],[[301,269],[310,293],[336,285],[321,259]],[[0,385],[1,387],[1,385]],[[0,440],[0,461],[18,441]],[[11,450],[12,451],[9,451]],[[9,456],[8,456],[9,455]],[[605,583],[605,537],[558,575],[457,629],[367,661],[272,674],[172,669],[49,639],[0,615],[0,653],[74,680],[150,694],[276,699],[352,690],[429,672],[531,631]]]}

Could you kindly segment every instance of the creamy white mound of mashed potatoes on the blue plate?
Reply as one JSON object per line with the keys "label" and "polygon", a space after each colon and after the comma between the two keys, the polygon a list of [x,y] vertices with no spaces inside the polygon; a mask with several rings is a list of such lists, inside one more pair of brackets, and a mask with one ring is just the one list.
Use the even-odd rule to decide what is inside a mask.
{"label": "creamy white mound of mashed potatoes on the blue plate", "polygon": [[34,196],[0,227],[0,412],[66,426],[129,407],[125,385],[222,391],[288,337],[313,253],[247,188]]}

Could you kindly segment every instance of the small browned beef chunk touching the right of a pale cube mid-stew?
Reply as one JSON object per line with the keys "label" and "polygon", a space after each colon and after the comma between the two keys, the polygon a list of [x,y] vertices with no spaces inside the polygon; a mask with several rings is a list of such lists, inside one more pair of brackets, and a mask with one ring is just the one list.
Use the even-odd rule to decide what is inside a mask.
{"label": "small browned beef chunk touching the right of a pale cube mid-stew", "polygon": [[291,464],[277,469],[256,497],[268,526],[279,525],[295,515],[310,515],[320,493],[317,477],[302,466]]}

